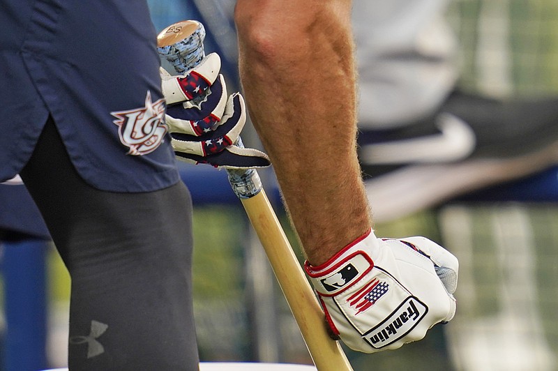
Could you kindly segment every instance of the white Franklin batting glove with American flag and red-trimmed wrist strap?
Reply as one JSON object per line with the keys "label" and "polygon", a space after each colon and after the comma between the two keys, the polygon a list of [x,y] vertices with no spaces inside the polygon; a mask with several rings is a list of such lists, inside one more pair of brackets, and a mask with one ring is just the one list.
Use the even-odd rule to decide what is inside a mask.
{"label": "white Franklin batting glove with American flag and red-trimmed wrist strap", "polygon": [[458,259],[424,237],[368,232],[306,273],[334,335],[356,351],[397,349],[455,315]]}

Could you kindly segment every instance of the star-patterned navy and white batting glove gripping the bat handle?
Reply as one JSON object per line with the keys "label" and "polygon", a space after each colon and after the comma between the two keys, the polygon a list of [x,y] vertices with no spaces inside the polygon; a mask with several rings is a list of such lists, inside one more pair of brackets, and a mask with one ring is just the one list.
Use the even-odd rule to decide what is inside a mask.
{"label": "star-patterned navy and white batting glove gripping the bat handle", "polygon": [[220,66],[218,54],[211,53],[186,75],[160,69],[174,153],[185,162],[228,169],[269,166],[262,151],[235,145],[246,123],[246,105],[240,93],[227,94]]}

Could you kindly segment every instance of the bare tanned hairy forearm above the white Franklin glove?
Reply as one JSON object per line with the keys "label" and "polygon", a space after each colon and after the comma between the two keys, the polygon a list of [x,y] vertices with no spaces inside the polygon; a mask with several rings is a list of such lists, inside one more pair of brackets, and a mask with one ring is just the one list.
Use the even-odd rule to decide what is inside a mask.
{"label": "bare tanned hairy forearm above the white Franklin glove", "polygon": [[306,255],[320,264],[370,227],[349,6],[239,0],[236,18],[250,116]]}

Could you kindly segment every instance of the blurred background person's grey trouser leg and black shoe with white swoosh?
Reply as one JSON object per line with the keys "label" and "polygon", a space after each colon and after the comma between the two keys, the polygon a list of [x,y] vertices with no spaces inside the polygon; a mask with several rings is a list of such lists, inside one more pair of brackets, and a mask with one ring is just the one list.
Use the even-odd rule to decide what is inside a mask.
{"label": "blurred background person's grey trouser leg and black shoe with white swoosh", "polygon": [[[495,63],[511,57],[499,49],[510,41],[499,40],[505,22],[491,21],[484,35],[491,43],[462,45],[448,22],[450,3],[354,1],[359,158],[377,222],[534,174],[558,158],[556,96],[519,97],[502,87],[505,61],[483,75],[482,91],[460,89],[464,50],[488,47],[477,58]],[[481,27],[476,16],[455,21]]]}

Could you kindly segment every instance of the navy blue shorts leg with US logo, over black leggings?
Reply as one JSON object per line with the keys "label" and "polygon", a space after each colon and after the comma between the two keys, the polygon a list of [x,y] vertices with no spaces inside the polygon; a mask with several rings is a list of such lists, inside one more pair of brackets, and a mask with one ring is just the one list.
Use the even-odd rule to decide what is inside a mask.
{"label": "navy blue shorts leg with US logo, over black leggings", "polygon": [[0,181],[29,160],[49,115],[93,187],[148,192],[179,181],[145,1],[0,7]]}

